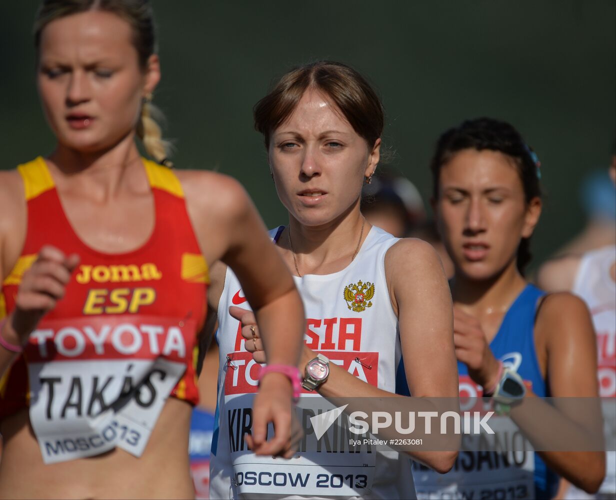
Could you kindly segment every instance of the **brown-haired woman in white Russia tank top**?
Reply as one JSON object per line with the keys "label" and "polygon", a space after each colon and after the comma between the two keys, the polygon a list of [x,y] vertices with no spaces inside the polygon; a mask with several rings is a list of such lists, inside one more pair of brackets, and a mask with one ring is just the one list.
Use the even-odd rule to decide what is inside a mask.
{"label": "brown-haired woman in white Russia tank top", "polygon": [[[254,117],[289,213],[288,227],[270,234],[306,308],[304,387],[328,398],[395,397],[402,376],[414,396],[456,397],[452,304],[439,257],[429,244],[371,227],[360,213],[384,122],[373,89],[346,65],[312,63],[286,73],[257,103]],[[246,455],[242,436],[249,430],[246,408],[258,371],[253,352],[261,350],[261,339],[232,272],[213,268],[210,290],[221,297],[222,367],[211,496],[415,498],[409,460],[397,452],[375,460],[323,450],[288,462]],[[402,355],[405,373],[399,373]],[[413,456],[445,472],[456,452]]]}

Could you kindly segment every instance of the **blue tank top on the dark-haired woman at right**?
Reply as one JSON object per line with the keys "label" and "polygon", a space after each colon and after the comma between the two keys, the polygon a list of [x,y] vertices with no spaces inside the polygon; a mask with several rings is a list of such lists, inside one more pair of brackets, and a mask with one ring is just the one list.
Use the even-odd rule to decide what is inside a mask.
{"label": "blue tank top on the dark-haired woman at right", "polygon": [[[539,397],[549,396],[549,387],[541,376],[537,352],[535,352],[535,313],[537,302],[545,296],[543,290],[532,284],[522,290],[503,318],[496,336],[490,342],[494,357],[516,369],[530,389]],[[468,376],[468,368],[458,361],[458,374]],[[559,477],[549,470],[541,457],[535,453],[535,498],[553,498]]]}

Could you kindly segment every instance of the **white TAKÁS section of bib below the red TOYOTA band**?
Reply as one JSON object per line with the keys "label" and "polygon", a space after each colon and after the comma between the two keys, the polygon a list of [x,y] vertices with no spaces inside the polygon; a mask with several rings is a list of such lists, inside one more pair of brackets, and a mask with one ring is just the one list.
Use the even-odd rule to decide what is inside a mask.
{"label": "white TAK\u00c1S section of bib below the red TOYOTA band", "polygon": [[162,358],[31,363],[30,421],[43,461],[84,458],[116,446],[140,456],[185,368]]}

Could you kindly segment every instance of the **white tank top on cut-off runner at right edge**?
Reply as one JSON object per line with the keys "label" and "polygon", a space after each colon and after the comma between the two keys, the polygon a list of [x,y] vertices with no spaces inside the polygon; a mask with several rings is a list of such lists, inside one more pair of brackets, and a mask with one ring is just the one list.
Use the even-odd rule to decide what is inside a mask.
{"label": "white tank top on cut-off runner at right edge", "polygon": [[[616,397],[616,283],[610,268],[616,262],[616,246],[610,245],[586,252],[580,261],[573,293],[588,305],[597,334],[599,395]],[[612,406],[604,405],[607,411]],[[616,435],[616,416],[605,414],[606,433]],[[600,493],[616,493],[616,452],[607,452],[607,473]],[[569,498],[580,493],[569,491]],[[572,495],[573,496],[570,496]]]}

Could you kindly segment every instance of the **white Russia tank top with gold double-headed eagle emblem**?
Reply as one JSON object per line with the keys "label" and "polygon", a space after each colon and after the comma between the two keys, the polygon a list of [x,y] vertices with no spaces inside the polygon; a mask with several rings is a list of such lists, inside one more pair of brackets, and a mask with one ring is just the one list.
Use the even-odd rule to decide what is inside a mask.
{"label": "white Russia tank top with gold double-headed eagle emblem", "polygon": [[[270,232],[274,240],[281,230]],[[294,276],[306,310],[306,344],[330,363],[392,393],[401,359],[400,332],[384,261],[397,241],[372,227],[343,270]],[[229,315],[230,305],[249,308],[245,300],[237,278],[227,270],[218,307],[219,427],[210,460],[211,498],[416,498],[410,460],[393,451],[360,448],[362,453],[349,453],[347,443],[334,439],[328,450],[324,446],[320,452],[300,452],[290,460],[248,453],[242,436],[251,423],[258,369],[246,352],[239,321]],[[323,400],[317,392],[301,395],[310,397]]]}

